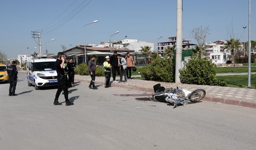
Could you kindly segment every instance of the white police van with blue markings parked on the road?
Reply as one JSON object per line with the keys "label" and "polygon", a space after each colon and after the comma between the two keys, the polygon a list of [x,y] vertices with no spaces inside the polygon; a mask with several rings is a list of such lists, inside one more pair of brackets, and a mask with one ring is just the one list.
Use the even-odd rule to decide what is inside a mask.
{"label": "white police van with blue markings parked on the road", "polygon": [[34,85],[36,90],[45,86],[58,85],[54,58],[33,58],[27,61],[28,86]]}

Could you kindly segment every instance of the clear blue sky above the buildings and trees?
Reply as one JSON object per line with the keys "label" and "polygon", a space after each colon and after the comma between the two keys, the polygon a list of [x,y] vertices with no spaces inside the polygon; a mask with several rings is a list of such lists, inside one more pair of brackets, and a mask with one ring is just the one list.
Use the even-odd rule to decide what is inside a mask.
{"label": "clear blue sky above the buildings and trees", "polygon": [[[183,38],[190,31],[209,27],[206,42],[234,36],[248,40],[249,0],[183,0]],[[3,0],[0,5],[0,51],[8,58],[39,52],[31,31],[42,32],[42,50],[57,54],[61,45],[71,48],[113,40],[137,39],[156,43],[176,36],[177,0]],[[256,40],[256,1],[251,0],[251,40]],[[78,12],[79,11],[79,12]],[[63,23],[65,22],[65,23]],[[244,39],[243,26],[247,26]],[[51,39],[55,39],[50,41]],[[48,42],[50,41],[50,42]],[[71,45],[71,46],[70,46]],[[155,45],[156,46],[156,45]],[[34,48],[37,47],[37,48]],[[154,48],[156,49],[156,48]]]}

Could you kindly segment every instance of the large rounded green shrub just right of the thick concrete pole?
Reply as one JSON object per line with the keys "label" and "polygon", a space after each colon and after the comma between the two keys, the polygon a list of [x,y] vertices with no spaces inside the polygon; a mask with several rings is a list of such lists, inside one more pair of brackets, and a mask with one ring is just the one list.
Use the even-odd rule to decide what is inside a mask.
{"label": "large rounded green shrub just right of the thick concrete pole", "polygon": [[226,86],[225,81],[220,81],[216,77],[216,65],[207,58],[191,57],[186,68],[180,71],[180,81],[185,84],[199,84],[212,86]]}

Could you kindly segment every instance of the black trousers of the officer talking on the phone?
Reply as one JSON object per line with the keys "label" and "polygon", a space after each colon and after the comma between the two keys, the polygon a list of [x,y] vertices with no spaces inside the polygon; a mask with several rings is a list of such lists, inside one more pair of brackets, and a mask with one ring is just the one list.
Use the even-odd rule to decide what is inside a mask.
{"label": "black trousers of the officer talking on the phone", "polygon": [[58,99],[59,99],[59,96],[60,96],[60,93],[64,92],[64,97],[65,97],[65,101],[66,103],[69,102],[68,100],[68,82],[67,82],[67,75],[64,75],[64,78],[62,80],[60,80],[60,78],[58,77],[57,78],[58,80],[58,90],[56,92],[56,95],[55,95],[55,99],[54,99],[54,102],[58,102]]}

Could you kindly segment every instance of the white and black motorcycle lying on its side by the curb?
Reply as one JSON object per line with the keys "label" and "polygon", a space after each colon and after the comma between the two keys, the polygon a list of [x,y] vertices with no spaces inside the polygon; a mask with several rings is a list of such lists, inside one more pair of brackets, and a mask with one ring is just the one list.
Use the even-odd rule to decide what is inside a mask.
{"label": "white and black motorcycle lying on its side by the curb", "polygon": [[164,88],[161,84],[153,86],[154,94],[152,96],[154,101],[169,102],[174,105],[174,108],[178,105],[183,105],[185,102],[198,102],[202,100],[206,94],[204,89],[197,89],[193,92],[178,88]]}

